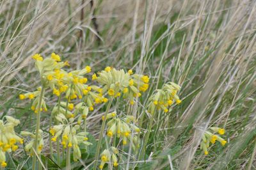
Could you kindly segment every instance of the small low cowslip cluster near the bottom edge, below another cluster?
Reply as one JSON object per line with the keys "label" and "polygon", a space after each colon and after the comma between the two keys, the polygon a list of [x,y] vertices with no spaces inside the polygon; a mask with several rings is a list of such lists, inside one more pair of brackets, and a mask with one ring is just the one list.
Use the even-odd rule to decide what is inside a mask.
{"label": "small low cowslip cluster near the bottom edge, below another cluster", "polygon": [[101,162],[100,162],[100,169],[103,169],[104,165],[106,164],[106,162],[111,162],[111,164],[113,164],[114,167],[118,166],[118,160],[116,155],[118,154],[118,149],[116,149],[115,147],[111,146],[111,148],[109,148],[108,150],[104,150],[101,153]]}

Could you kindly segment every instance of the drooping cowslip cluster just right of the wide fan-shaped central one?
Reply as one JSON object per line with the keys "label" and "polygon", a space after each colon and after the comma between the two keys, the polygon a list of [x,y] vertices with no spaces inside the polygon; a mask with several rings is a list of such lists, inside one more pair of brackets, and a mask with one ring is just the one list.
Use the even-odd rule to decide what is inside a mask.
{"label": "drooping cowslip cluster just right of the wide fan-shaped central one", "polygon": [[168,112],[168,107],[173,104],[173,100],[180,104],[181,100],[177,96],[179,89],[180,86],[174,82],[168,82],[163,85],[162,89],[157,89],[149,98],[148,112],[153,114],[155,109],[162,109],[164,112]]}

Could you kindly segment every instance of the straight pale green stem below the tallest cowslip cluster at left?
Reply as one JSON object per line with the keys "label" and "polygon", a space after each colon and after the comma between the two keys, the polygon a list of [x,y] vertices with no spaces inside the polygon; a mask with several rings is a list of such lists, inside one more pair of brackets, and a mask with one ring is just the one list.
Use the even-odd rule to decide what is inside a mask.
{"label": "straight pale green stem below the tallest cowslip cluster at left", "polygon": [[[36,132],[35,132],[35,142],[34,142],[34,150],[37,151],[38,146],[38,135],[39,135],[39,129],[40,129],[40,113],[41,113],[41,107],[42,107],[42,100],[44,97],[44,86],[41,89],[39,103],[38,103],[38,113],[36,114]],[[33,154],[33,164],[32,164],[32,170],[36,169],[36,153]]]}

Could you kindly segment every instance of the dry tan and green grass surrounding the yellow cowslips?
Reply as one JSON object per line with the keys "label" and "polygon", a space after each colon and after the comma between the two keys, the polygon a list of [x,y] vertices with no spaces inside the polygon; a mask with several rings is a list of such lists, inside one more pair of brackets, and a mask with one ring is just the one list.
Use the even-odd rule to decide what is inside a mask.
{"label": "dry tan and green grass surrounding the yellow cowslips", "polygon": [[[54,51],[72,68],[149,75],[144,97],[164,82],[182,86],[182,104],[155,118],[148,163],[137,169],[255,169],[255,15],[255,1],[238,0],[1,1],[0,118],[13,115],[19,130],[35,129],[18,95],[39,84],[31,56]],[[88,118],[96,138],[102,114]],[[47,121],[43,114],[43,129]],[[228,143],[204,155],[198,146],[211,126],[224,127]]]}

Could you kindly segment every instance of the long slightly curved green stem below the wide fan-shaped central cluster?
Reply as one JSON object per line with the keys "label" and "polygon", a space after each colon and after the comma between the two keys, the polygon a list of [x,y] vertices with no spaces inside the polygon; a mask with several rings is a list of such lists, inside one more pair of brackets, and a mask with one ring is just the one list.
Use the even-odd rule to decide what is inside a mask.
{"label": "long slightly curved green stem below the wide fan-shaped central cluster", "polygon": [[106,121],[107,121],[106,118],[107,118],[107,114],[109,112],[109,109],[111,107],[112,102],[113,102],[113,98],[111,98],[111,100],[108,102],[108,106],[107,106],[106,112],[104,114],[104,120],[103,120],[103,123],[102,123],[101,128],[100,128],[100,135],[99,135],[100,138],[99,138],[99,141],[97,143],[97,149],[96,149],[96,154],[95,154],[95,164],[93,165],[93,170],[97,169],[97,160],[99,159],[100,146],[101,146],[103,133],[104,133],[104,129],[105,129]]}

